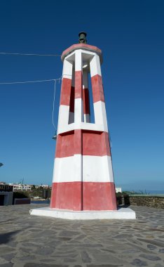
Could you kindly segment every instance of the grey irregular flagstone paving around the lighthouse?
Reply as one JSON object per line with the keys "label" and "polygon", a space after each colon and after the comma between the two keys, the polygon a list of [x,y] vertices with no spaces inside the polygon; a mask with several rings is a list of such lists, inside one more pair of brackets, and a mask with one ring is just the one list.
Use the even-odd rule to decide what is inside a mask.
{"label": "grey irregular flagstone paving around the lighthouse", "polygon": [[131,207],[136,220],[68,221],[0,207],[0,266],[164,266],[164,209]]}

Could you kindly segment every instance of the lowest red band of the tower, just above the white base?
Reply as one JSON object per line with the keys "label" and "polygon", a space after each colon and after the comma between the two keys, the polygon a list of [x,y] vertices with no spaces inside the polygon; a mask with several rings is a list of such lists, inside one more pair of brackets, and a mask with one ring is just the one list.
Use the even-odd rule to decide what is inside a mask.
{"label": "lowest red band of the tower, just above the white base", "polygon": [[116,210],[114,183],[53,183],[50,208],[81,210]]}

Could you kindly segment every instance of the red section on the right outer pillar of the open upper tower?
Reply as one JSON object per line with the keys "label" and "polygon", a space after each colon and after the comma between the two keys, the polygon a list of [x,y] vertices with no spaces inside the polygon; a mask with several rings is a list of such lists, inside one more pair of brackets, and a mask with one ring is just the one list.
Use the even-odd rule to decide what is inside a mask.
{"label": "red section on the right outer pillar of the open upper tower", "polygon": [[104,90],[102,86],[102,77],[99,74],[91,77],[91,83],[93,88],[93,103],[97,101],[104,102]]}

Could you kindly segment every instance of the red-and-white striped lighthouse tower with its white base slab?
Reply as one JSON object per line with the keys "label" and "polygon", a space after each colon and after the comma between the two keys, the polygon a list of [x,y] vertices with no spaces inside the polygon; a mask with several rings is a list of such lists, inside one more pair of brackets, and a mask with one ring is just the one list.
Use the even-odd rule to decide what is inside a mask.
{"label": "red-and-white striped lighthouse tower with its white base slab", "polygon": [[[62,85],[50,207],[31,214],[63,219],[135,219],[117,209],[104,89],[102,51],[78,44],[62,53]],[[93,116],[90,107],[93,105]],[[93,122],[91,122],[93,121]]]}

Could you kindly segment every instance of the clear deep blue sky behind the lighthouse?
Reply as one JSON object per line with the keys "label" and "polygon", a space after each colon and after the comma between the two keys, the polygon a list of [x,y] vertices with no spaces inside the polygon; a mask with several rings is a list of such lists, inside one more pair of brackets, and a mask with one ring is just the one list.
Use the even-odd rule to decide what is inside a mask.
{"label": "clear deep blue sky behind the lighthouse", "polygon": [[[0,52],[61,54],[86,31],[102,49],[116,186],[164,190],[164,2],[1,1]],[[55,79],[60,57],[0,55],[0,82]],[[53,82],[0,85],[0,181],[51,184]],[[60,99],[57,84],[55,124]]]}

